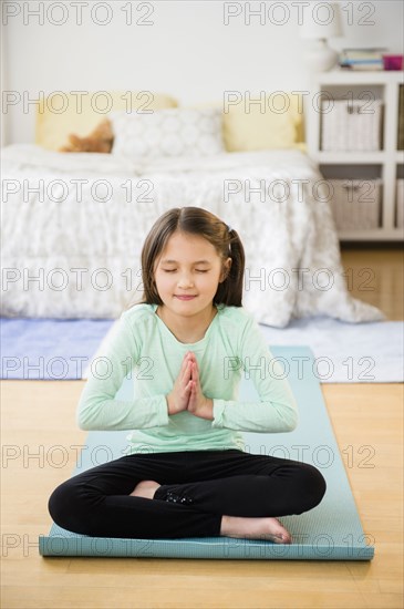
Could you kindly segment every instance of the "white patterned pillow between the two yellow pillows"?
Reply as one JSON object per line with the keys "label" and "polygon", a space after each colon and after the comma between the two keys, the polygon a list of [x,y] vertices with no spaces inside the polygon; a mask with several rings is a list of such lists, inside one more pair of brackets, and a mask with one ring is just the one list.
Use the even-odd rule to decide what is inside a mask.
{"label": "white patterned pillow between the two yellow pillows", "polygon": [[210,156],[225,151],[220,109],[112,112],[112,154],[130,158]]}

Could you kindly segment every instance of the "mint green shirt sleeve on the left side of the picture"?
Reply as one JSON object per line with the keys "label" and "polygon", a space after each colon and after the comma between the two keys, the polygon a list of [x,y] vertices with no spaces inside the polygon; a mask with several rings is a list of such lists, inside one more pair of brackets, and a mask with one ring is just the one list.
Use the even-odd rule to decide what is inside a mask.
{"label": "mint green shirt sleeve on the left side of the picture", "polygon": [[134,430],[168,424],[164,394],[115,400],[123,380],[137,360],[138,348],[134,332],[121,316],[104,349],[91,362],[91,371],[76,410],[76,422],[81,430]]}

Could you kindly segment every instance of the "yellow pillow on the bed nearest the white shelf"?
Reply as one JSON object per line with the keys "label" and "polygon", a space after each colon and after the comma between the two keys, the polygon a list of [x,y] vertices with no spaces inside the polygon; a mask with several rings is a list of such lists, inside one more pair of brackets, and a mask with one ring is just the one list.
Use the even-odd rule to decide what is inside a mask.
{"label": "yellow pillow on the bed nearest the white shelf", "polygon": [[[302,99],[284,92],[266,93],[262,106],[235,97],[224,107],[224,142],[228,152],[299,147],[302,141]],[[259,100],[260,94],[250,95]],[[262,111],[262,112],[261,112]]]}

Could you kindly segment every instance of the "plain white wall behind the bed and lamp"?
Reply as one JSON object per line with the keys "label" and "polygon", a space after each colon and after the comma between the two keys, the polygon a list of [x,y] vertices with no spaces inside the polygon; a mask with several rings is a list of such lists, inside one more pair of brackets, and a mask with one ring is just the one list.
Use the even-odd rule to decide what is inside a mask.
{"label": "plain white wall behind the bed and lamp", "polygon": [[[3,106],[3,143],[33,142],[35,105],[24,112],[23,100],[38,99],[41,91],[156,91],[175,96],[182,104],[221,100],[228,90],[307,91],[310,74],[302,58],[299,14],[319,3],[232,2],[232,10],[241,13],[226,25],[224,12],[229,3],[215,0],[143,4],[86,0],[76,1],[77,8],[71,1],[3,2],[3,97],[6,90],[21,100]],[[40,4],[44,7],[43,23],[32,12]],[[401,0],[340,4],[344,7],[344,37],[331,41],[336,50],[386,47],[391,52],[403,52]],[[131,6],[132,25],[123,10]],[[145,21],[153,24],[136,23],[146,14],[147,6],[153,13]],[[82,24],[77,24],[79,7]],[[263,23],[251,17],[248,24],[248,9],[260,8]],[[110,14],[110,22],[97,24],[91,10],[99,22]],[[63,19],[66,21],[61,25],[52,23]],[[374,24],[369,24],[371,21]]]}

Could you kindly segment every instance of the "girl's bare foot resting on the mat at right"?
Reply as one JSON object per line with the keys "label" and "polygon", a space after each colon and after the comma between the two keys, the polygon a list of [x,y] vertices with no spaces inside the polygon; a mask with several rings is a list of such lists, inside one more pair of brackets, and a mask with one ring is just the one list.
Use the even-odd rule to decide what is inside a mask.
{"label": "girl's bare foot resting on the mat at right", "polygon": [[226,537],[246,537],[263,539],[276,544],[291,544],[290,533],[277,518],[241,518],[222,516],[220,535]]}

